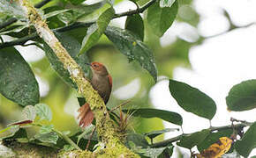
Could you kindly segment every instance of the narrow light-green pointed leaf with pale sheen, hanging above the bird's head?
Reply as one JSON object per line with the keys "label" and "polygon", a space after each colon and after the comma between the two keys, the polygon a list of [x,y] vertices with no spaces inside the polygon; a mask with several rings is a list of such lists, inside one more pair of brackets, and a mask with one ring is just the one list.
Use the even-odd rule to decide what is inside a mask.
{"label": "narrow light-green pointed leaf with pale sheen, hanging above the bird's head", "polygon": [[114,17],[115,10],[110,7],[107,11],[104,11],[102,15],[98,18],[97,22],[91,25],[87,29],[87,36],[83,39],[82,47],[79,54],[87,52],[90,47],[101,38],[103,32],[105,32],[110,20]]}

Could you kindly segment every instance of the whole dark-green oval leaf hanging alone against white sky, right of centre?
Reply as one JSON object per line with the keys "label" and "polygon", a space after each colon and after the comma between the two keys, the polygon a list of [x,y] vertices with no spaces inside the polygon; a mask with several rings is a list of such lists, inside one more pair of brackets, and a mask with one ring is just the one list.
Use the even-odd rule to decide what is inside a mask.
{"label": "whole dark-green oval leaf hanging alone against white sky, right of centre", "polygon": [[185,111],[192,112],[203,118],[212,119],[215,116],[215,101],[200,90],[186,83],[169,80],[169,91]]}

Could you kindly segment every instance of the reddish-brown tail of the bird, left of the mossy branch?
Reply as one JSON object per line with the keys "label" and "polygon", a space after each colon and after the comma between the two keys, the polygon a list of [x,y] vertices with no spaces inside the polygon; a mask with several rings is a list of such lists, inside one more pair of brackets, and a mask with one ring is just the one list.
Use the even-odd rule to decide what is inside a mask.
{"label": "reddish-brown tail of the bird, left of the mossy branch", "polygon": [[89,104],[84,104],[79,108],[79,126],[89,126],[94,120],[94,113],[91,111]]}

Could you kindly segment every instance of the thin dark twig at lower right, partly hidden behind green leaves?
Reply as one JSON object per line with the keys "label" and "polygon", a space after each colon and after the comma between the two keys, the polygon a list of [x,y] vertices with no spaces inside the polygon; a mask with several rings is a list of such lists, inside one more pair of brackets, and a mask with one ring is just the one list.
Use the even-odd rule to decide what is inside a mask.
{"label": "thin dark twig at lower right, partly hidden behind green leaves", "polygon": [[[251,123],[252,125],[252,123]],[[210,128],[208,128],[209,130],[211,130],[211,132],[214,132],[214,131],[222,131],[222,130],[226,130],[226,129],[233,129],[233,128],[239,128],[239,127],[245,127],[245,126],[248,126],[244,123],[241,123],[241,124],[237,124],[237,125],[230,125],[230,126],[212,126]],[[177,141],[177,140],[180,140],[183,136],[187,136],[187,135],[190,135],[192,133],[183,133],[183,134],[180,134],[178,135],[177,137],[174,137],[174,138],[170,138],[168,140],[162,140],[162,141],[159,141],[159,142],[156,142],[154,144],[152,144],[150,147],[166,147],[168,146],[169,144]]]}

